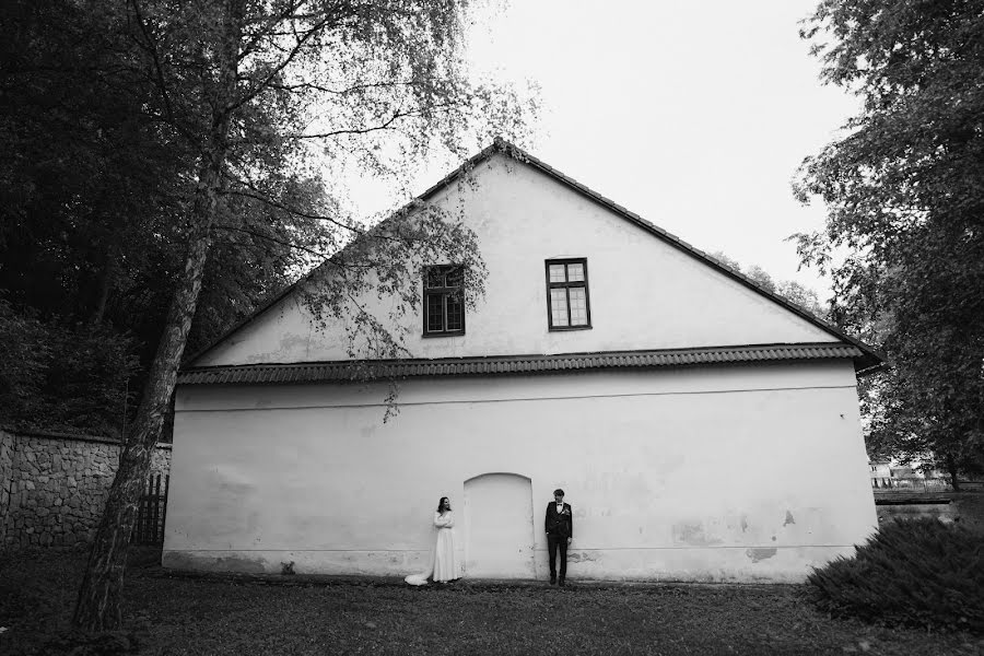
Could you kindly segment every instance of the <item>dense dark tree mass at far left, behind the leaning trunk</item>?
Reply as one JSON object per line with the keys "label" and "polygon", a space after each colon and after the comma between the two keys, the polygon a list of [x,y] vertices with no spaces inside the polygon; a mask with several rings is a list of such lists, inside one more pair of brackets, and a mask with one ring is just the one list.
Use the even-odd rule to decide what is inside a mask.
{"label": "dense dark tree mass at far left, behind the leaning trunk", "polygon": [[113,320],[124,313],[110,319],[109,291],[127,259],[161,251],[148,226],[180,153],[121,91],[132,78],[97,74],[118,70],[119,44],[101,27],[49,0],[10,2],[0,21],[0,321],[43,352],[17,364],[35,384],[0,418],[115,435],[144,336]]}

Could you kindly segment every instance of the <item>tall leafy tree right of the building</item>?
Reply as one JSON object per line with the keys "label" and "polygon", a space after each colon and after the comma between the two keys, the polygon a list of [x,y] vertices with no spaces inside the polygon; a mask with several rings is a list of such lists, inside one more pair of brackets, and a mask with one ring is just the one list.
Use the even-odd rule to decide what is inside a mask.
{"label": "tall leafy tree right of the building", "polygon": [[864,106],[799,171],[828,208],[801,259],[891,362],[863,398],[869,452],[929,455],[956,483],[984,465],[984,2],[824,0],[803,36]]}

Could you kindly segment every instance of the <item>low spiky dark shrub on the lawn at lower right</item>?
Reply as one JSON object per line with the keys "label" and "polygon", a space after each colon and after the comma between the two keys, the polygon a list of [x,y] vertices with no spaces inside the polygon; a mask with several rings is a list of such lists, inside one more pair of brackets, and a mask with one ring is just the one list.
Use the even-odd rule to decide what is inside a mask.
{"label": "low spiky dark shrub on the lawn at lower right", "polygon": [[939,519],[888,524],[807,582],[836,617],[984,633],[984,539]]}

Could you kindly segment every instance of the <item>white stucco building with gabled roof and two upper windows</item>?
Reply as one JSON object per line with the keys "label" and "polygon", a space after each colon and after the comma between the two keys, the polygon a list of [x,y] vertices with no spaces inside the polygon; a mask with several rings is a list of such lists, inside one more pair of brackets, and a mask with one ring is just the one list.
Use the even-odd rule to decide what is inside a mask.
{"label": "white stucco building with gabled roof and two upper windows", "polygon": [[406,318],[385,423],[387,384],[349,382],[342,327],[315,330],[295,288],[200,354],[165,565],[417,572],[447,495],[466,576],[546,578],[558,487],[571,579],[801,581],[877,527],[869,347],[504,142],[422,200],[465,208],[478,307],[437,292]]}

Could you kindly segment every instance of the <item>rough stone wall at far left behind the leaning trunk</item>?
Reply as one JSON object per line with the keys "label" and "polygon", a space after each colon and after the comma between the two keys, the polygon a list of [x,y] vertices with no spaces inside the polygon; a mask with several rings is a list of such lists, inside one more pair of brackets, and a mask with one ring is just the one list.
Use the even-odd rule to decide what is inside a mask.
{"label": "rough stone wall at far left behind the leaning trunk", "polygon": [[[87,542],[119,464],[113,440],[0,431],[0,546]],[[171,445],[154,450],[152,473],[171,470]]]}

